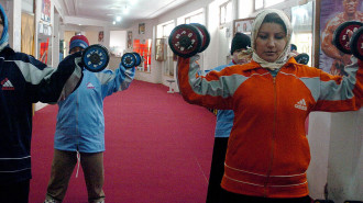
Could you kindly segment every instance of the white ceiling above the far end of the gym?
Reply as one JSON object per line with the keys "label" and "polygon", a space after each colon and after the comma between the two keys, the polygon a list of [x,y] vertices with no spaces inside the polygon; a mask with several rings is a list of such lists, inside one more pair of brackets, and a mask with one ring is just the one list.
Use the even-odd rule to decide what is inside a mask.
{"label": "white ceiling above the far end of the gym", "polygon": [[[80,24],[81,19],[97,21],[99,24],[110,24],[128,29],[135,21],[148,20],[172,11],[191,0],[58,0],[63,15],[69,24]],[[117,21],[117,16],[121,16]],[[112,24],[114,21],[114,25]],[[82,24],[85,21],[81,21]]]}

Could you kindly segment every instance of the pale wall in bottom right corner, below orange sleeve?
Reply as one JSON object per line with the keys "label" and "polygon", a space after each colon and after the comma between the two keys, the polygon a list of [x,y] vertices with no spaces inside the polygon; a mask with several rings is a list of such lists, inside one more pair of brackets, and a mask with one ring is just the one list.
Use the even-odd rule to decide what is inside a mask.
{"label": "pale wall in bottom right corner, below orange sleeve", "polygon": [[363,201],[363,110],[331,114],[328,198]]}

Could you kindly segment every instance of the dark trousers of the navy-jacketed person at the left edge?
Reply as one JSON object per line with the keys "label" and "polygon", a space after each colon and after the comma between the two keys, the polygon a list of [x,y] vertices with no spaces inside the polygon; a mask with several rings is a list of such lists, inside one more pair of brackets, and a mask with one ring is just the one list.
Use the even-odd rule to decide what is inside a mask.
{"label": "dark trousers of the navy-jacketed person at the left edge", "polygon": [[0,184],[0,202],[4,203],[28,203],[30,180]]}

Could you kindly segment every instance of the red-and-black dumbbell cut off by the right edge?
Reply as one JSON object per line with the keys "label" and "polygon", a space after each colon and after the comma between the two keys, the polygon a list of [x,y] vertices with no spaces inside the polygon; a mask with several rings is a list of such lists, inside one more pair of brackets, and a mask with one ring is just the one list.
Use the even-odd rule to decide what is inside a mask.
{"label": "red-and-black dumbbell cut off by the right edge", "polygon": [[[334,46],[344,54],[353,54],[363,60],[363,23],[360,21],[346,21],[338,26],[333,34]],[[348,33],[353,32],[352,37]]]}

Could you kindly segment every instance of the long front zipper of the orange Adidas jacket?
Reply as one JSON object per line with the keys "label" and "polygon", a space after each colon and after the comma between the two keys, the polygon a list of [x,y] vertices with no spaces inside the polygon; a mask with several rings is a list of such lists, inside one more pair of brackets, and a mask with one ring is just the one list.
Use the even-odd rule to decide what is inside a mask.
{"label": "long front zipper of the orange Adidas jacket", "polygon": [[[278,75],[278,72],[277,72]],[[274,162],[274,148],[275,148],[275,137],[276,137],[276,116],[277,116],[277,92],[276,92],[276,77],[273,77],[273,83],[274,83],[274,123],[273,123],[273,135],[272,135],[272,144],[271,144],[271,160],[270,160],[270,166],[267,170],[267,177],[266,177],[266,182],[265,182],[265,194],[264,196],[267,198],[267,184],[270,182],[270,174],[272,171],[272,166]]]}

